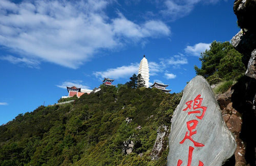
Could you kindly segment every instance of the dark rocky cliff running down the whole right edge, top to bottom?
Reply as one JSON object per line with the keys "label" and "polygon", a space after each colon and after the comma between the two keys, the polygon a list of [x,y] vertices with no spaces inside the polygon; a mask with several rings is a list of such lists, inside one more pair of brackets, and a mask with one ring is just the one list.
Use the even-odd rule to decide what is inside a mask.
{"label": "dark rocky cliff running down the whole right edge, top to bottom", "polygon": [[244,55],[248,77],[238,80],[232,87],[232,96],[218,101],[223,105],[231,100],[223,105],[223,117],[236,137],[236,165],[251,166],[256,165],[256,139],[252,136],[256,132],[256,0],[236,0],[233,9],[241,31],[232,38],[232,45]]}

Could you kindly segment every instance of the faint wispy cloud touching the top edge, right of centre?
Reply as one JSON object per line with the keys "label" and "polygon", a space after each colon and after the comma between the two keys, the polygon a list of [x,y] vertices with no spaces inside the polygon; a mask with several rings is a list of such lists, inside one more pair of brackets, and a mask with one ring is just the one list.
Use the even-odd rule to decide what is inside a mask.
{"label": "faint wispy cloud touching the top edge, right of centre", "polygon": [[219,0],[166,0],[164,9],[160,11],[163,16],[170,20],[175,20],[189,14],[198,3],[215,4]]}

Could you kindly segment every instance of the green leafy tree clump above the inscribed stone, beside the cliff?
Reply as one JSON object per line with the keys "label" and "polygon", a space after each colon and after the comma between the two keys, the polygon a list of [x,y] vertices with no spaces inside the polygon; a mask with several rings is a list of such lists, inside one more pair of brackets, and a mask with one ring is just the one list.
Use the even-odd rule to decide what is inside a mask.
{"label": "green leafy tree clump above the inscribed stone, beside the cliff", "polygon": [[195,66],[196,74],[207,78],[210,84],[221,80],[236,80],[245,73],[242,54],[229,41],[213,41],[209,50],[201,53],[201,69]]}

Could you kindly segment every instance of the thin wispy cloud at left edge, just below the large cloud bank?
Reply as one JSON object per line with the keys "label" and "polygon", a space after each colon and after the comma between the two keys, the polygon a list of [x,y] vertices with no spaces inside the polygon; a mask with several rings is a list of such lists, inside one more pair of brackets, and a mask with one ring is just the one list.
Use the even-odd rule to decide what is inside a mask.
{"label": "thin wispy cloud at left edge, just below the large cloud bank", "polygon": [[7,56],[0,56],[1,60],[7,60],[12,64],[22,64],[22,65],[26,65],[29,68],[39,68],[40,62],[38,60],[35,59],[29,59],[26,57],[15,57],[12,55],[7,55]]}

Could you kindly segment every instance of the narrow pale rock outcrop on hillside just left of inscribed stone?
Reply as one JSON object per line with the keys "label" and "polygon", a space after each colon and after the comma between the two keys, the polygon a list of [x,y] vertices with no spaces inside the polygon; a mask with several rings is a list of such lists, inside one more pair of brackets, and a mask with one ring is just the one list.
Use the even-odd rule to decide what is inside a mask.
{"label": "narrow pale rock outcrop on hillside just left of inscribed stone", "polygon": [[168,137],[168,127],[162,125],[157,130],[157,138],[155,144],[153,146],[153,150],[151,152],[151,159],[157,160],[161,156],[162,152],[165,150],[167,146],[167,138]]}

